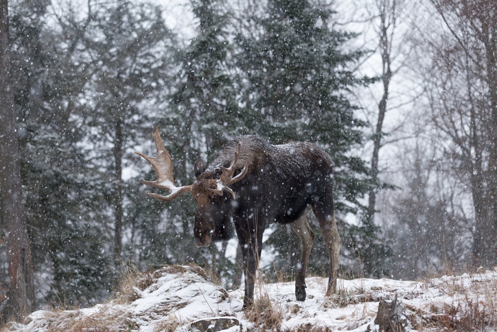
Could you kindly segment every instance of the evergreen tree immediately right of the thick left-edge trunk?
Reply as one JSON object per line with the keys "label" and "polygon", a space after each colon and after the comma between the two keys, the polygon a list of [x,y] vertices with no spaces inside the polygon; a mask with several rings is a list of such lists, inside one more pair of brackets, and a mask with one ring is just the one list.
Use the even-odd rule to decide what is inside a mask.
{"label": "evergreen tree immediately right of the thick left-edge trunk", "polygon": [[[38,3],[39,4],[39,3]],[[45,4],[46,5],[46,4]],[[45,25],[43,6],[12,15],[14,98],[19,109],[26,218],[36,296],[60,304],[100,301],[111,289],[105,236],[88,203],[94,190],[78,143],[86,67],[65,48],[75,36]]]}

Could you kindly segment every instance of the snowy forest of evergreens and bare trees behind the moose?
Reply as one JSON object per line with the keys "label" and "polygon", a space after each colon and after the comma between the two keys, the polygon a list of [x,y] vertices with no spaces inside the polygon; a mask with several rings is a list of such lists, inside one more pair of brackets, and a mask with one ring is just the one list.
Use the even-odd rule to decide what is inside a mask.
{"label": "snowy forest of evergreens and bare trees behind the moose", "polygon": [[[126,269],[196,263],[240,285],[236,240],[148,197],[159,126],[178,185],[230,137],[334,162],[340,278],[497,264],[494,0],[0,0],[0,314],[87,307]],[[309,274],[327,250],[316,232]],[[299,239],[270,225],[266,278]],[[292,248],[297,248],[296,251]]]}

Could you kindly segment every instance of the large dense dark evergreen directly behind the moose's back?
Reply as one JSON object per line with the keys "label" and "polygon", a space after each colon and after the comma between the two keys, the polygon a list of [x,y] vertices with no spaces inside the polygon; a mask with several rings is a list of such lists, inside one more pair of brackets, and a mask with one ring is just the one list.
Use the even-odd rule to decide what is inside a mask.
{"label": "large dense dark evergreen directly behind the moose's back", "polygon": [[[332,29],[334,13],[319,3],[270,0],[262,12],[262,17],[249,18],[257,23],[259,32],[237,38],[245,75],[240,94],[246,105],[244,120],[253,133],[273,143],[304,140],[325,148],[335,163],[336,208],[360,219],[364,206],[359,199],[372,183],[365,162],[351,153],[363,143],[365,122],[354,114],[358,108],[350,102],[348,92],[372,81],[356,77],[351,69],[364,52],[345,50],[344,45],[355,35]],[[361,248],[359,242],[365,241],[378,242],[381,252],[376,255],[388,254],[376,235],[378,228],[355,228],[346,223],[339,223],[339,228],[343,242],[354,242],[354,250],[362,256],[374,252],[371,246]],[[288,232],[275,232],[272,243],[285,243]],[[316,233],[313,252],[318,254],[311,254],[311,269],[321,269],[321,258],[326,256],[321,234]],[[351,241],[353,236],[359,242]],[[283,254],[281,247],[279,251]],[[282,261],[277,265],[288,264]]]}

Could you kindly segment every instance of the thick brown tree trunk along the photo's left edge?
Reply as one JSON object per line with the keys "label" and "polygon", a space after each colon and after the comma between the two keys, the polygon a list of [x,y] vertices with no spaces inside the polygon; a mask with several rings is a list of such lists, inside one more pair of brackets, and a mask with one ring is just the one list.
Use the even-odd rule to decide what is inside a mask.
{"label": "thick brown tree trunk along the photo's left edge", "polygon": [[21,188],[19,140],[10,76],[8,0],[0,0],[0,199],[10,287],[3,318],[22,318],[34,308],[33,267]]}

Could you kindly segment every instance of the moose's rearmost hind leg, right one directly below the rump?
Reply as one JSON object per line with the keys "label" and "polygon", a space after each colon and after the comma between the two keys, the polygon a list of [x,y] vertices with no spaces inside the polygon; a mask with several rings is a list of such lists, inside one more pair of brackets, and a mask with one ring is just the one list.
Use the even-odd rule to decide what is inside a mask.
{"label": "moose's rearmost hind leg, right one directly below the rump", "polygon": [[[331,207],[331,208],[330,208]],[[338,275],[338,258],[340,254],[340,235],[336,228],[333,201],[330,204],[316,203],[312,206],[316,219],[319,221],[323,239],[330,253],[330,280],[326,296],[331,296],[336,291],[336,278]]]}

